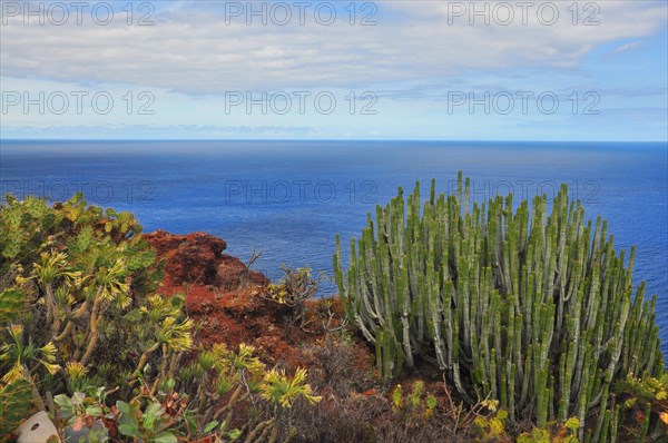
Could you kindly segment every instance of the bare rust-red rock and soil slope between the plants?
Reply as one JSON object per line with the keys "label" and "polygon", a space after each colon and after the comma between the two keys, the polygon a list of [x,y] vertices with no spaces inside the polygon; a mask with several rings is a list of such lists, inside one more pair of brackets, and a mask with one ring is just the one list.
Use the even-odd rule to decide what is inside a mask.
{"label": "bare rust-red rock and soil slope between the plants", "polygon": [[[205,233],[175,235],[164,230],[145,238],[164,260],[165,276],[160,293],[186,295],[188,315],[199,324],[196,342],[204,347],[225,343],[230,348],[252,344],[258,356],[269,364],[288,367],[314,363],[301,352],[305,343],[322,341],[318,306],[324,301],[308,302],[304,328],[291,325],[289,307],[264,298],[269,279],[249,270],[238,258],[223,254],[225,240]],[[331,301],[336,314],[331,327],[338,325],[340,305]],[[322,309],[321,309],[322,311]],[[317,326],[308,332],[311,326]]]}

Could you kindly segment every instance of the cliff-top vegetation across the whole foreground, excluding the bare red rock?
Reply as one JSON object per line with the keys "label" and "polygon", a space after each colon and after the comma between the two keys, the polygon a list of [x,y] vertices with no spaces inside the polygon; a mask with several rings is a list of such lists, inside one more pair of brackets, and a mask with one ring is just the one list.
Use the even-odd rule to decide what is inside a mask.
{"label": "cliff-top vegetation across the whole foreground, excluding the bare red rock", "polygon": [[[668,375],[632,253],[566,189],[531,210],[468,200],[462,181],[379,207],[347,273],[337,248],[340,298],[291,267],[206,298],[196,283],[161,292],[131,214],[7,197],[0,441],[40,410],[61,441],[666,441]],[[212,341],[232,323],[203,309],[223,301],[210,312],[257,339]]]}

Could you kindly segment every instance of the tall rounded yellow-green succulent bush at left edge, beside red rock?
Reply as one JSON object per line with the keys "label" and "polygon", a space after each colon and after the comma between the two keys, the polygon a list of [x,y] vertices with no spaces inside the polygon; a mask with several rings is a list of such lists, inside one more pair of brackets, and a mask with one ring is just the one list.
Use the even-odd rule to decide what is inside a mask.
{"label": "tall rounded yellow-green succulent bush at left edge, beside red rock", "polygon": [[53,206],[8,197],[0,228],[4,378],[48,373],[55,377],[47,387],[58,388],[69,383],[60,368],[80,363],[89,376],[114,385],[128,374],[105,365],[132,366],[132,355],[165,342],[183,322],[177,302],[161,319],[161,337],[136,322],[139,309],[150,308],[146,297],[158,276],[150,270],[155,253],[131,214],[87,206],[81,195]]}

